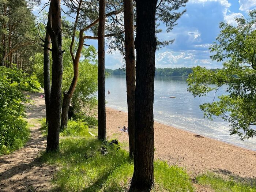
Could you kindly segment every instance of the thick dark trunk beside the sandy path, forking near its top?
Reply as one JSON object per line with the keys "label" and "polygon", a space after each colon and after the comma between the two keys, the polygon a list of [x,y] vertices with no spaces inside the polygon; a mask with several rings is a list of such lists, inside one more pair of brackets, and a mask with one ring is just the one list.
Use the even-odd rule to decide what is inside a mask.
{"label": "thick dark trunk beside the sandy path, forking near its top", "polygon": [[63,74],[60,0],[51,0],[52,26],[46,29],[52,40],[52,89],[46,152],[59,150],[61,83]]}

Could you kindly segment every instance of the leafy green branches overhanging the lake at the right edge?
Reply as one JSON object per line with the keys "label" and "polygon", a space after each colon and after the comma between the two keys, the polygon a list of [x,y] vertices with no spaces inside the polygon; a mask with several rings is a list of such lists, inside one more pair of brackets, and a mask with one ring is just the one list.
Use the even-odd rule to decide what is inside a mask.
{"label": "leafy green branches overhanging the lake at the right edge", "polygon": [[237,134],[241,140],[256,135],[256,64],[255,23],[256,10],[249,12],[248,19],[236,18],[237,26],[221,23],[218,42],[210,47],[212,60],[222,61],[223,68],[210,71],[203,67],[193,68],[187,80],[188,91],[196,96],[205,96],[209,91],[218,91],[226,85],[226,95],[218,101],[200,105],[204,115],[221,117],[230,123],[230,134]]}

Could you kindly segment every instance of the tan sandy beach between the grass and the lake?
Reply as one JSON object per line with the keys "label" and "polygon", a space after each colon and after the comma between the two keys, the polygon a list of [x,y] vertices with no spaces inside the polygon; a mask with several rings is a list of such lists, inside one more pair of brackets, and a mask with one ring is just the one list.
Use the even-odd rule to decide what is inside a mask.
{"label": "tan sandy beach between the grass and the lake", "polygon": [[[127,113],[106,108],[106,118],[107,136],[127,143],[128,150],[128,133],[120,131],[128,126]],[[155,158],[185,167],[191,176],[211,170],[238,179],[256,179],[256,151],[196,137],[194,133],[157,122],[154,132]]]}

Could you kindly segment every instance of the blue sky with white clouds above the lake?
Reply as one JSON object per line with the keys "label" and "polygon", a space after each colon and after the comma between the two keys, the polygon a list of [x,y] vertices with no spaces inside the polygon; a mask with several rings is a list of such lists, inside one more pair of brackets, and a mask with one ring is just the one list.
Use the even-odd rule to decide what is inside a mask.
{"label": "blue sky with white clouds above the lake", "polygon": [[[45,0],[43,0],[45,1]],[[224,21],[236,25],[235,17],[244,15],[256,8],[256,0],[189,0],[187,11],[177,21],[170,33],[160,23],[163,32],[158,38],[163,41],[175,39],[173,44],[157,50],[156,68],[193,67],[200,65],[206,68],[221,68],[222,63],[211,61],[208,48],[219,34],[219,23]],[[35,11],[36,13],[36,11]],[[97,48],[97,41],[86,44]],[[106,46],[105,67],[116,69],[123,66],[123,56],[119,51],[108,53]]]}

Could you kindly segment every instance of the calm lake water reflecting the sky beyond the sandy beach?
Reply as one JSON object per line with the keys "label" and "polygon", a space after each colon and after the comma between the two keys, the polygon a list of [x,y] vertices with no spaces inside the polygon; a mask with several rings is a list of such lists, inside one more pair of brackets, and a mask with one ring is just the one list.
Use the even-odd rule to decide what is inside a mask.
{"label": "calm lake water reflecting the sky beyond the sandy beach", "polygon": [[[237,135],[229,135],[229,124],[220,118],[203,118],[199,105],[212,102],[214,92],[207,97],[194,98],[188,93],[185,77],[155,77],[154,120],[240,147],[256,150],[256,138],[242,142]],[[125,76],[106,77],[106,106],[127,112]],[[108,94],[108,90],[110,94]],[[221,87],[217,94],[225,94]],[[169,98],[174,96],[177,98]],[[166,98],[161,98],[166,97]],[[164,133],[163,133],[164,134]]]}

